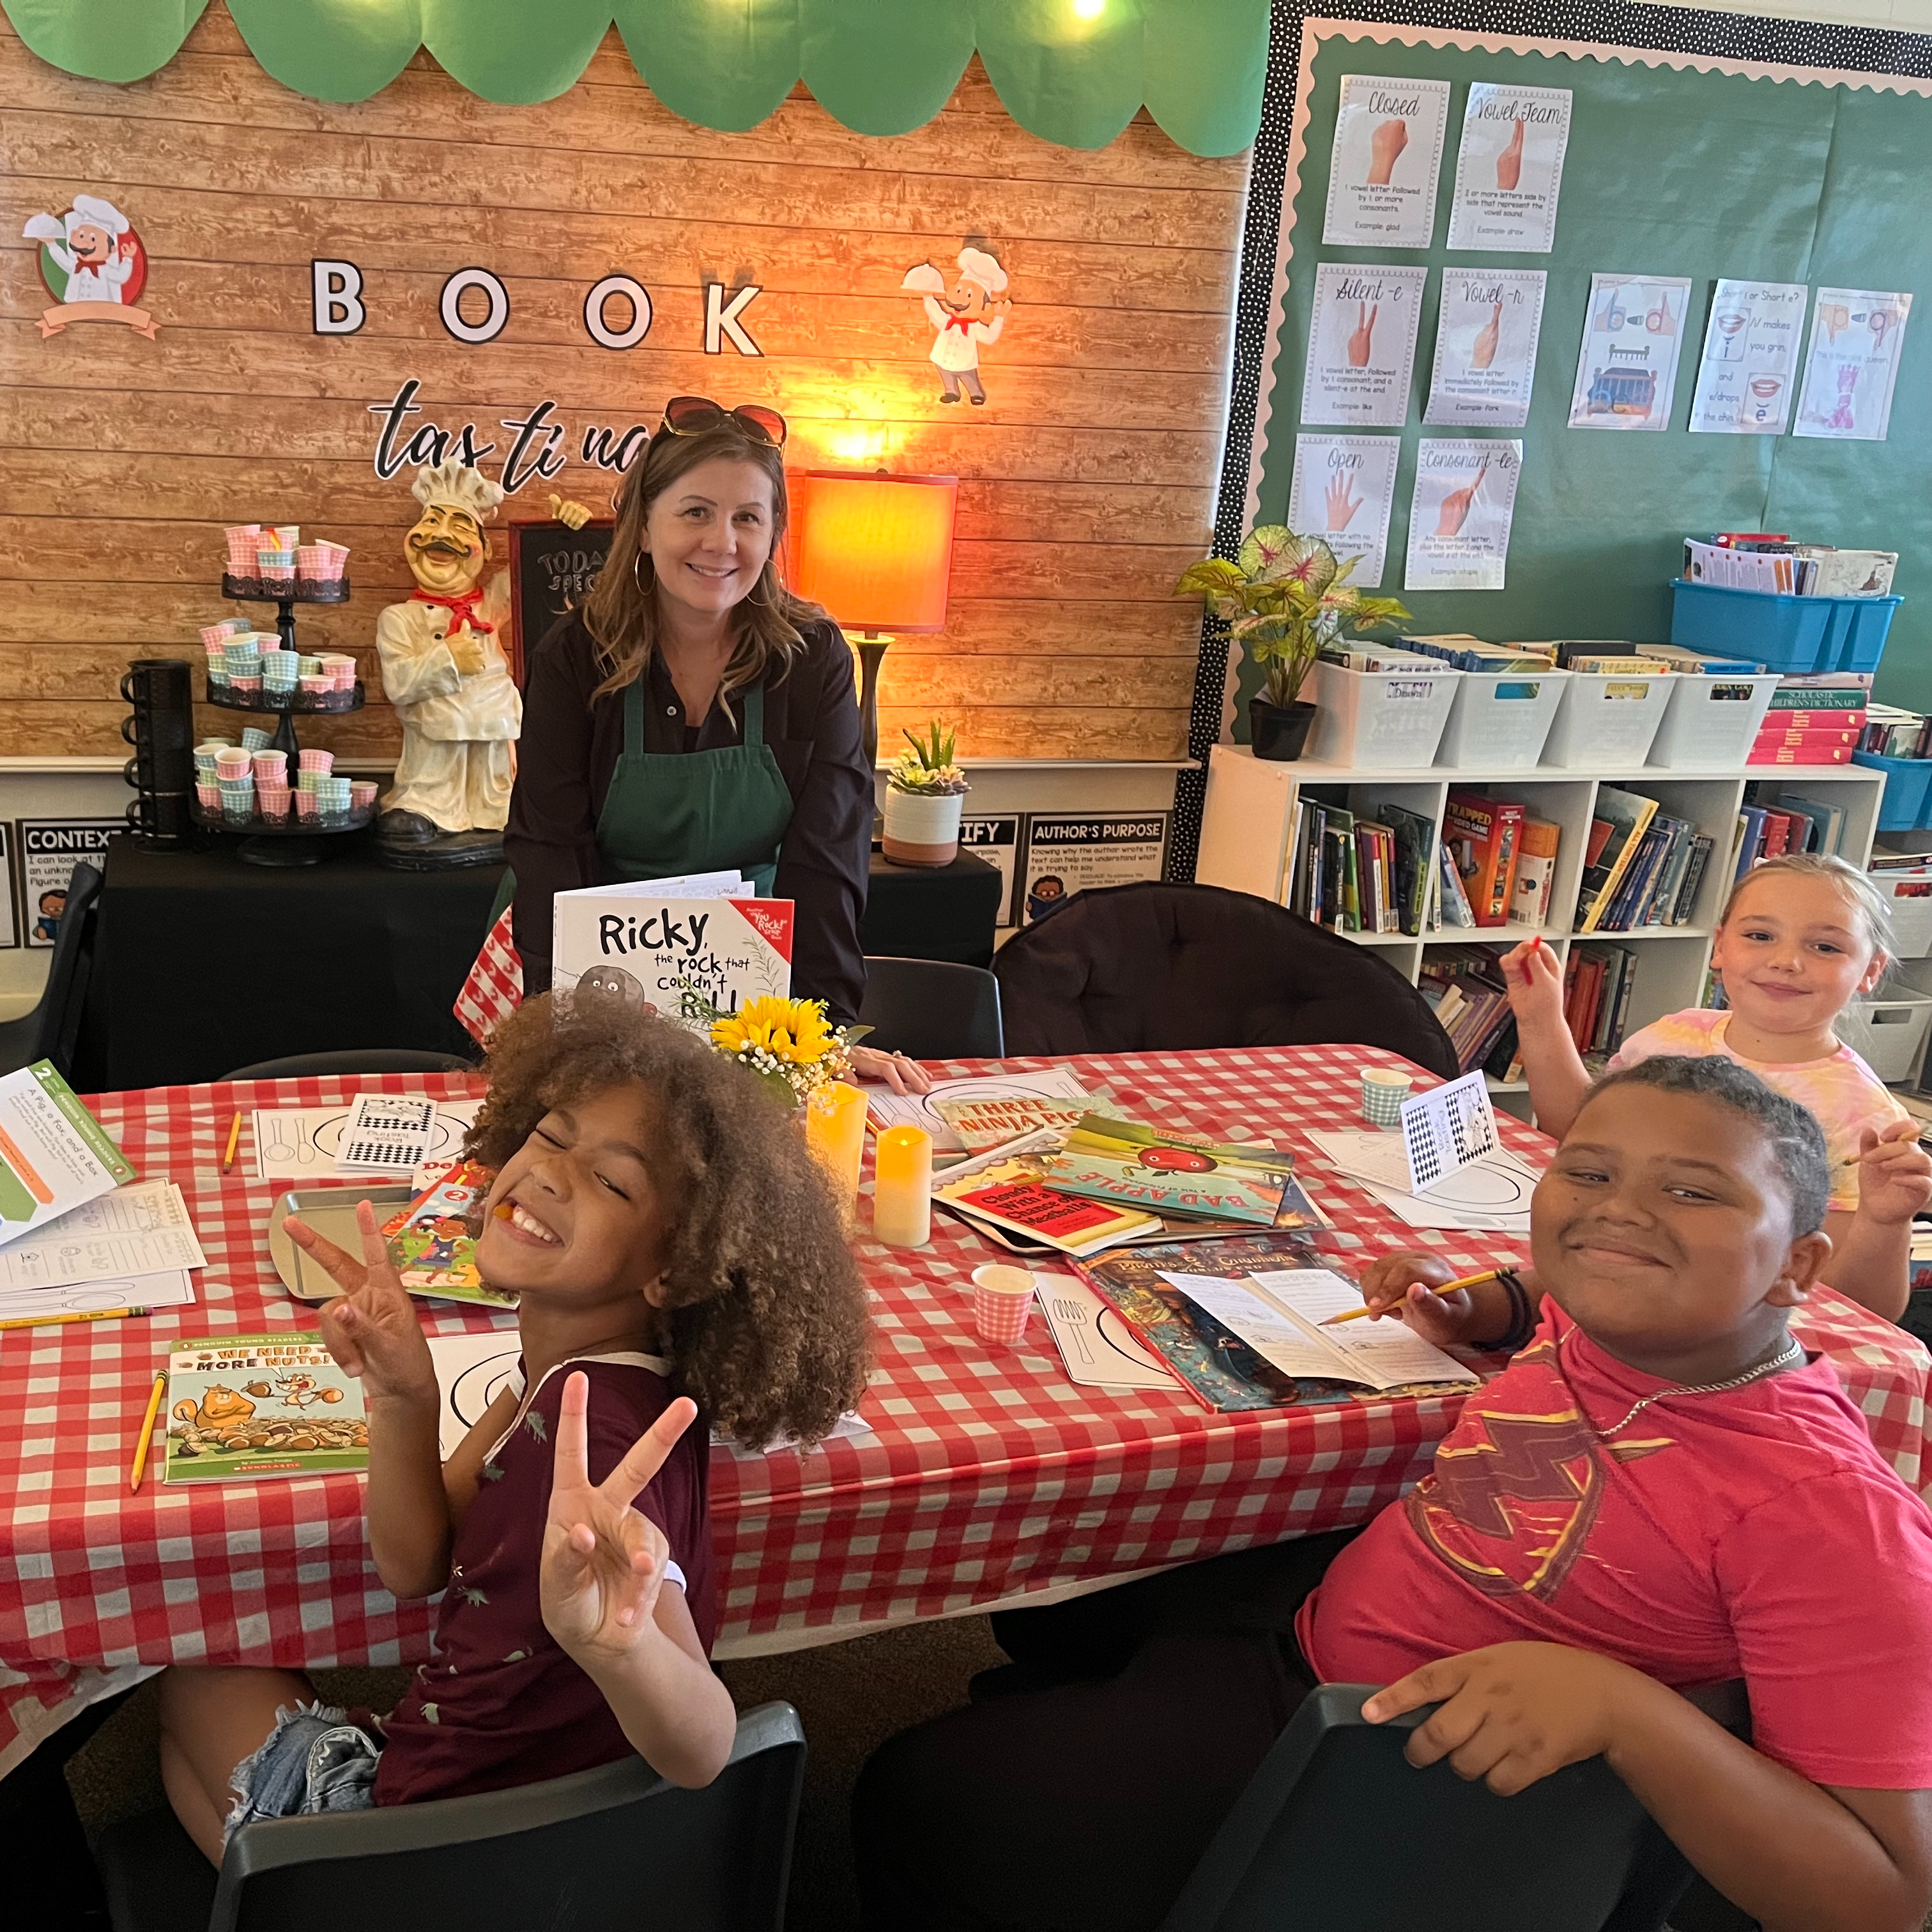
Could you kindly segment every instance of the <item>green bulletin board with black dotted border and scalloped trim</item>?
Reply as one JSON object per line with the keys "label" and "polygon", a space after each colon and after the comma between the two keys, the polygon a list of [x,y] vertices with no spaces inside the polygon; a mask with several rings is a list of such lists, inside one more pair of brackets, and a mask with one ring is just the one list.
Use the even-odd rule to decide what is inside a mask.
{"label": "green bulletin board with black dotted border and scalloped trim", "polygon": [[[1238,541],[1256,522],[1291,522],[1318,265],[1426,267],[1381,578],[1381,589],[1414,612],[1414,630],[1662,641],[1685,535],[1779,529],[1899,553],[1893,587],[1905,603],[1878,696],[1932,703],[1932,224],[1922,187],[1932,153],[1932,81],[1922,77],[1932,73],[1932,39],[1588,4],[1511,8],[1519,31],[1507,35],[1478,25],[1478,15],[1495,19],[1493,8],[1408,6],[1403,23],[1387,17],[1395,12],[1387,6],[1360,12],[1376,17],[1275,15],[1264,137],[1248,191],[1219,543]],[[1428,25],[1414,23],[1416,15]],[[1633,29],[1652,44],[1629,44]],[[1762,56],[1774,50],[1804,66],[1766,64]],[[1321,240],[1349,73],[1449,83],[1426,247]],[[1476,81],[1571,91],[1548,253],[1447,247],[1464,104]],[[1534,390],[1520,429],[1422,425],[1445,267],[1546,270]],[[1690,280],[1667,429],[1567,427],[1590,280],[1607,270]],[[1719,276],[1806,284],[1795,377],[1820,286],[1911,292],[1888,440],[1803,439],[1789,429],[1777,437],[1690,435]],[[1314,423],[1306,427],[1318,433]],[[1403,587],[1424,437],[1522,440],[1501,589]],[[1219,670],[1204,665],[1196,709],[1202,750],[1215,738],[1246,738],[1244,705],[1258,676],[1240,665],[1225,678]]]}

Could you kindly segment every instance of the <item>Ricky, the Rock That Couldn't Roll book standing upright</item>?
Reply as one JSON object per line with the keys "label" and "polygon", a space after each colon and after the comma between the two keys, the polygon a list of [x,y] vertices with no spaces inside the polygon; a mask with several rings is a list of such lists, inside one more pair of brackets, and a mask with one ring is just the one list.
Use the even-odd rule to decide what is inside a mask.
{"label": "Ricky, the Rock That Couldn't Roll book standing upright", "polygon": [[792,989],[792,900],[757,898],[736,871],[591,885],[556,895],[556,991],[597,991],[711,1028],[711,1009]]}

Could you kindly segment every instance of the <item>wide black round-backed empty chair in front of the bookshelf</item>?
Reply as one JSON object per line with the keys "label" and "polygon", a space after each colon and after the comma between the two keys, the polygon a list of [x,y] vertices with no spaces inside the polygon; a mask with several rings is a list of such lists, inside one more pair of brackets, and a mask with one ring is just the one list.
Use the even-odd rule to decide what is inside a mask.
{"label": "wide black round-backed empty chair in front of the bookshelf", "polygon": [[1387,1047],[1453,1080],[1430,1003],[1374,949],[1217,885],[1076,893],[993,958],[1009,1053]]}

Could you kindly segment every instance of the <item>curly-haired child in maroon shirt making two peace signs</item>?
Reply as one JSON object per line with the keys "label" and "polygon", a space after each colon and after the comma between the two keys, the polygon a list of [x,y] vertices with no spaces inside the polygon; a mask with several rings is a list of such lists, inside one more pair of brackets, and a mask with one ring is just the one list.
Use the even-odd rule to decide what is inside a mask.
{"label": "curly-haired child in maroon shirt making two peace signs", "polygon": [[[278,1669],[174,1669],[162,1777],[216,1862],[257,1818],[460,1797],[638,1752],[709,1783],[736,1716],[717,1631],[707,1432],[815,1441],[864,1389],[866,1296],[810,1151],[744,1072],[620,1001],[529,1001],[466,1153],[497,1169],[477,1267],[518,1294],[518,1374],[444,1464],[415,1304],[299,1221],[369,1403],[369,1548],[442,1590],[437,1654],[377,1723]],[[230,1793],[234,1803],[230,1804]]]}

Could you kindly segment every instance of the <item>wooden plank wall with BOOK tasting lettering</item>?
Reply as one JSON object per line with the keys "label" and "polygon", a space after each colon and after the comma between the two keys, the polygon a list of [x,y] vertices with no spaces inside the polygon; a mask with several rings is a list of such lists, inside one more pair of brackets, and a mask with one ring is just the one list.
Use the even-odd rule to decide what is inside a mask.
{"label": "wooden plank wall with BOOK tasting lettering", "polygon": [[[354,601],[299,622],[309,647],[357,651],[371,690],[305,736],[390,753],[371,638],[408,589],[413,504],[408,473],[375,475],[369,406],[408,377],[413,421],[487,425],[493,471],[497,419],[545,396],[580,435],[697,392],[784,410],[800,468],[956,473],[952,620],[889,655],[885,742],[939,711],[968,755],[1184,750],[1200,612],[1167,591],[1211,522],[1238,158],[1186,155],[1146,116],[1101,153],[1053,147],[978,62],[904,137],[850,133],[804,89],[750,133],[713,133],[665,110],[614,35],[541,106],[477,100],[427,54],[330,106],[270,79],[216,4],[131,87],[44,66],[0,19],[0,755],[118,755],[128,657],[197,655],[195,630],[236,609],[216,591],[220,526],[284,520],[354,547]],[[77,191],[143,236],[158,340],[41,340],[21,224]],[[931,330],[898,290],[968,238],[1012,276],[983,410],[939,404]],[[363,269],[357,334],[313,334],[313,257]],[[471,265],[510,294],[485,346],[437,313]],[[611,272],[655,305],[622,354],[582,323]],[[746,315],[763,359],[701,354],[705,280],[763,286]],[[558,487],[603,504],[611,477],[578,466]],[[541,495],[506,514],[541,514]]]}

